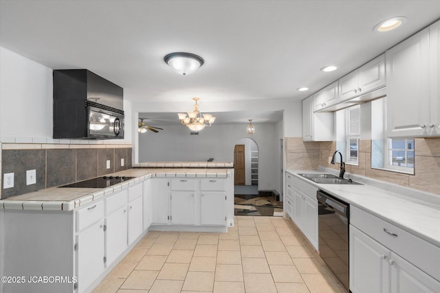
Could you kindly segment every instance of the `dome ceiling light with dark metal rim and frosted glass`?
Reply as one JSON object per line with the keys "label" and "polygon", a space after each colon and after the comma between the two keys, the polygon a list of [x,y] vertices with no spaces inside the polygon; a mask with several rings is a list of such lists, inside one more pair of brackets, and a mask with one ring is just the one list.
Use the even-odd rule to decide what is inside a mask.
{"label": "dome ceiling light with dark metal rim and frosted glass", "polygon": [[164,61],[181,75],[193,73],[205,62],[200,56],[184,52],[170,53],[164,57]]}

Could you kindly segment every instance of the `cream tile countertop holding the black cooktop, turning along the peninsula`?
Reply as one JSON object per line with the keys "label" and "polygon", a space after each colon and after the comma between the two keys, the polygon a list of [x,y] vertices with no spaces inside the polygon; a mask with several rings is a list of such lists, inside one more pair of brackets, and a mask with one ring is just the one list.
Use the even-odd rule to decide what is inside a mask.
{"label": "cream tile countertop holding the black cooktop, turning along the peninsula", "polygon": [[52,187],[21,196],[0,200],[0,209],[25,209],[34,211],[73,211],[81,205],[109,196],[115,191],[140,183],[152,177],[226,178],[230,169],[128,169],[107,176],[135,177],[105,188]]}

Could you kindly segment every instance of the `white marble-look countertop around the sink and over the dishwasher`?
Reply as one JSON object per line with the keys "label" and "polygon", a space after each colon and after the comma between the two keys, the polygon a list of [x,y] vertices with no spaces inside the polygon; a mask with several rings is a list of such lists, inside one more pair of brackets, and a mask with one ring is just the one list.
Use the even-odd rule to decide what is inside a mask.
{"label": "white marble-look countertop around the sink and over the dishwasher", "polygon": [[287,170],[287,172],[344,202],[353,204],[440,247],[440,196],[438,195],[384,184],[361,176],[352,176],[352,179],[364,185],[319,184],[298,175],[302,173],[336,174],[327,172],[327,170],[326,172]]}

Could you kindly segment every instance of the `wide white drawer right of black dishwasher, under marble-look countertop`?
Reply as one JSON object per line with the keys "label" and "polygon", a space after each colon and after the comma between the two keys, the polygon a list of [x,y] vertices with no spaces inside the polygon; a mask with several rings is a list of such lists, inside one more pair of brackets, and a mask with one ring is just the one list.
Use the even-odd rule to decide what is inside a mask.
{"label": "wide white drawer right of black dishwasher, under marble-look countertop", "polygon": [[[350,207],[350,222],[386,248],[440,280],[440,248],[357,207]],[[394,235],[391,235],[393,233]]]}

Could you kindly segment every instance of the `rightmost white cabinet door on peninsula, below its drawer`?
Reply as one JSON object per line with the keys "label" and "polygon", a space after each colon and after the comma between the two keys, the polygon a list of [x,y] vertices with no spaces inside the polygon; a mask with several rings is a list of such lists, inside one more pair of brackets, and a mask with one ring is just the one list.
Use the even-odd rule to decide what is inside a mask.
{"label": "rightmost white cabinet door on peninsula, below its drawer", "polygon": [[226,226],[226,193],[203,191],[200,194],[200,224]]}

